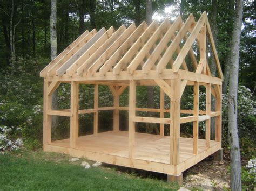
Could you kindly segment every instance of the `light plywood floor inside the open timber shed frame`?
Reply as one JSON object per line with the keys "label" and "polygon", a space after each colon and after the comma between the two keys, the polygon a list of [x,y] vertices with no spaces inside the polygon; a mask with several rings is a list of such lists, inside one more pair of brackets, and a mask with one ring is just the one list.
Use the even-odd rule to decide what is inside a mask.
{"label": "light plywood floor inside the open timber shed frame", "polygon": [[[211,140],[211,147],[218,144]],[[51,145],[69,147],[69,139],[57,140]],[[194,156],[193,139],[180,138],[180,162]],[[84,151],[128,157],[128,132],[108,131],[98,135],[78,137],[76,148]],[[206,150],[205,140],[198,140],[198,152]],[[170,137],[136,133],[135,156],[136,159],[161,162],[169,164]]]}

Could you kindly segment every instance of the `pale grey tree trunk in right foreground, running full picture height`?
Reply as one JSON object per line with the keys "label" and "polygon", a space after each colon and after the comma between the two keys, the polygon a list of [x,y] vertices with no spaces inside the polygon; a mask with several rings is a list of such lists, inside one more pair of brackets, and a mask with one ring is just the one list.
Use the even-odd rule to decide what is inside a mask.
{"label": "pale grey tree trunk in right foreground, running full picture height", "polygon": [[235,2],[234,29],[231,41],[230,79],[228,90],[228,135],[231,159],[231,190],[241,190],[241,159],[237,124],[237,90],[239,72],[239,45],[242,26],[243,1]]}

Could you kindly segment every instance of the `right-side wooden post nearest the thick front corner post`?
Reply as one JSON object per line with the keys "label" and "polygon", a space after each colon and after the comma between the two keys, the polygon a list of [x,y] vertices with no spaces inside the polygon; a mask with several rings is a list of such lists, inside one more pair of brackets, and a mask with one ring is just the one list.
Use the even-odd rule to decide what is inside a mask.
{"label": "right-side wooden post nearest the thick front corner post", "polygon": [[199,83],[194,82],[194,116],[197,120],[193,121],[193,153],[198,154],[198,116],[199,116]]}

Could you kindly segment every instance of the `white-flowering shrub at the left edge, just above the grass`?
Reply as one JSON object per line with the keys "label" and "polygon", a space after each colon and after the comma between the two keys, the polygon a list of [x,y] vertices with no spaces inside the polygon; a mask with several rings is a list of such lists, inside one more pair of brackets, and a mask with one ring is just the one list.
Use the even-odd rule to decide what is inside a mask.
{"label": "white-flowering shrub at the left edge, just above the grass", "polygon": [[[14,128],[9,128],[7,126],[0,126],[0,151],[5,150],[18,150],[23,146],[23,141],[21,138],[15,138],[12,136],[12,130]],[[16,132],[19,128],[16,129]]]}

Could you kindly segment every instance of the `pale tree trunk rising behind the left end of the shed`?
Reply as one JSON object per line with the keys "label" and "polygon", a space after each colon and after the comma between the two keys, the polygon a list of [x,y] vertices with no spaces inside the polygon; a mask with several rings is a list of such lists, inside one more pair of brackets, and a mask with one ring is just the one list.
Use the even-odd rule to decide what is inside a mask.
{"label": "pale tree trunk rising behind the left end of the shed", "polygon": [[[51,60],[57,56],[57,0],[51,0],[51,16],[50,16],[50,42],[51,42]],[[52,109],[58,108],[58,91],[52,93]],[[58,125],[57,116],[52,116],[52,131],[54,132]]]}

